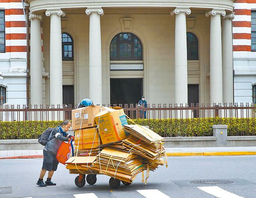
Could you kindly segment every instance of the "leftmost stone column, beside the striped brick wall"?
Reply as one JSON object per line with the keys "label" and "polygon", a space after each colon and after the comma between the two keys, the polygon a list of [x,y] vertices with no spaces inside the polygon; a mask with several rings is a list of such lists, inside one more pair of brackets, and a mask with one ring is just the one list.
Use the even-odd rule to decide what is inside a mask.
{"label": "leftmost stone column, beside the striped brick wall", "polygon": [[[30,104],[43,104],[41,14],[29,14],[30,27]],[[29,61],[29,60],[28,60]]]}

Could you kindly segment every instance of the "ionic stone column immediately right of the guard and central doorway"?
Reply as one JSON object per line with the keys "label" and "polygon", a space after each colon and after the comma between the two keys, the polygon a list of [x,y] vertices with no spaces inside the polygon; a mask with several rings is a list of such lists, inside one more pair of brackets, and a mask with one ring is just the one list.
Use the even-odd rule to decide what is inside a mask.
{"label": "ionic stone column immediately right of the guard and central doorway", "polygon": [[188,103],[187,29],[186,14],[189,8],[176,8],[175,17],[175,103]]}

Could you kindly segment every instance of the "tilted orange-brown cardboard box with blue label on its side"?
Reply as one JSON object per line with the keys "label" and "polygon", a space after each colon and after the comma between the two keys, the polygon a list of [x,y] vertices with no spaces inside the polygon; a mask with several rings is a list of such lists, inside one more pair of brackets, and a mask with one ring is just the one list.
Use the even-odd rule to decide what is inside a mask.
{"label": "tilted orange-brown cardboard box with blue label on its side", "polygon": [[95,116],[96,124],[99,124],[100,138],[103,144],[126,139],[130,134],[123,130],[127,124],[124,110],[105,108]]}

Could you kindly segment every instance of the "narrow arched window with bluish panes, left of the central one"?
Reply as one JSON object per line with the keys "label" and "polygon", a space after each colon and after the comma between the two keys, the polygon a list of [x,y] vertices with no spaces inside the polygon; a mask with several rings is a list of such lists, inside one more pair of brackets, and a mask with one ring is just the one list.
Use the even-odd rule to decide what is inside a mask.
{"label": "narrow arched window with bluish panes, left of the central one", "polygon": [[73,39],[67,34],[62,34],[62,60],[74,60]]}

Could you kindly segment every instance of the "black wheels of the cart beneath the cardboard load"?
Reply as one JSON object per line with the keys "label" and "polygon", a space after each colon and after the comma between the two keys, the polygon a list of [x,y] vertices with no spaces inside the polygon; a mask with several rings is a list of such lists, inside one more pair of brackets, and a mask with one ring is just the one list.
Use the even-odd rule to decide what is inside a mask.
{"label": "black wheels of the cart beneath the cardboard load", "polygon": [[[76,178],[75,178],[75,184],[77,187],[84,187],[85,185],[85,180],[88,184],[93,185],[96,183],[97,181],[97,175],[96,174],[79,174]],[[112,188],[118,188],[120,186],[120,183],[123,183],[125,186],[129,186],[130,182],[125,182],[125,181],[121,181],[119,179],[115,179],[114,177],[110,177],[109,179],[109,185]]]}

